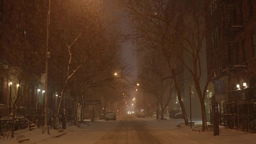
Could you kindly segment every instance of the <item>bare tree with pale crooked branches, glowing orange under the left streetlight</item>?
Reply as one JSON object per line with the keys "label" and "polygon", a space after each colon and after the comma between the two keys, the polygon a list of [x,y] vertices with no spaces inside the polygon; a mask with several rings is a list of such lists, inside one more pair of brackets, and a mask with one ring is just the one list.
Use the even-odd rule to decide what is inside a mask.
{"label": "bare tree with pale crooked branches, glowing orange under the left streetlight", "polygon": [[[99,74],[102,75],[102,72],[104,72],[110,63],[118,61],[117,58],[115,58],[114,61],[108,59],[120,54],[118,32],[111,26],[111,22],[108,23],[109,16],[106,12],[107,8],[104,2],[101,0],[85,0],[79,2],[79,5],[77,5],[77,3],[65,1],[65,4],[69,5],[69,3],[76,4],[80,9],[78,8],[79,11],[75,10],[72,13],[74,16],[69,16],[68,13],[70,19],[77,20],[77,23],[71,21],[67,22],[67,24],[71,24],[70,26],[73,28],[69,28],[68,30],[65,29],[63,33],[58,31],[58,33],[66,40],[66,50],[63,50],[62,47],[57,48],[60,49],[59,51],[63,53],[63,56],[61,57],[61,61],[56,61],[55,63],[61,65],[64,64],[63,67],[65,68],[65,73],[61,73],[63,74],[63,76],[61,76],[62,90],[60,90],[61,97],[56,119],[61,108],[63,92],[65,91],[70,78],[76,75],[76,72],[82,70],[83,72],[88,73],[86,76],[87,78],[84,80],[86,84],[83,86],[96,87],[103,85],[102,83],[105,81],[104,77],[93,82],[91,80],[95,79],[95,76],[98,76]],[[80,21],[81,19],[83,19],[83,21]],[[67,26],[66,28],[70,26]],[[56,43],[61,42],[56,36],[52,39],[56,40]],[[96,65],[93,66],[92,64]],[[90,66],[98,69],[90,68]],[[55,127],[56,125],[57,121],[55,122]]]}

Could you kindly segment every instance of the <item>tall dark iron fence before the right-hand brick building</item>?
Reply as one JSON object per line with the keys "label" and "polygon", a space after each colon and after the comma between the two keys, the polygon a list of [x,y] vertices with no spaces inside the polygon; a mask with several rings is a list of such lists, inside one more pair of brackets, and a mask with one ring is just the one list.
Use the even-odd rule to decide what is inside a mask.
{"label": "tall dark iron fence before the right-hand brick building", "polygon": [[226,102],[223,104],[224,126],[256,132],[256,102]]}

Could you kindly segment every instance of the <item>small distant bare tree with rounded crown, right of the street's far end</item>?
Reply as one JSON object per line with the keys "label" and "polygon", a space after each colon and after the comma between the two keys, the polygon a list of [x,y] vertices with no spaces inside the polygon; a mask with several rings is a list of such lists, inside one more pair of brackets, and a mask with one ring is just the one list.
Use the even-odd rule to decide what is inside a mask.
{"label": "small distant bare tree with rounded crown, right of the street's far end", "polygon": [[[138,82],[143,92],[153,94],[161,106],[161,120],[164,119],[164,109],[168,106],[174,86],[172,80],[163,78],[170,75],[168,64],[160,53],[148,52],[141,64],[142,71]],[[140,89],[139,89],[140,90]]]}

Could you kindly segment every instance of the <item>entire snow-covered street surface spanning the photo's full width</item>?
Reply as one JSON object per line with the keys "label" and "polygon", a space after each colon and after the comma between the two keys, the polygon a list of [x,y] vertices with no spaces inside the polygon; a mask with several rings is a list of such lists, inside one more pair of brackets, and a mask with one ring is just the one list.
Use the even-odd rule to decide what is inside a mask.
{"label": "entire snow-covered street surface spanning the photo's full width", "polygon": [[[41,134],[42,129],[16,132],[30,138],[30,141],[24,141],[22,144],[254,144],[256,142],[256,135],[248,132],[220,127],[220,136],[213,136],[212,131],[199,133],[192,131],[190,127],[177,128],[179,122],[182,120],[136,118],[131,114],[118,116],[116,121],[100,120],[94,123],[89,121],[89,125],[67,126],[64,132],[51,130],[51,135]],[[17,140],[0,141],[0,144],[16,143]]]}

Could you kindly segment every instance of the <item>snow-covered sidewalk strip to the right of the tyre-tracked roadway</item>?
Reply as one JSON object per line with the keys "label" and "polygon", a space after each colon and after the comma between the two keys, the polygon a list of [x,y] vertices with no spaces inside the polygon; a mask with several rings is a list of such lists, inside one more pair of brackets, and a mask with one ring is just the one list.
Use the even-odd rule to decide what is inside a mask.
{"label": "snow-covered sidewalk strip to the right of the tyre-tracked roadway", "polygon": [[[213,136],[213,131],[195,132],[190,129],[190,126],[177,128],[179,122],[184,122],[181,119],[153,120],[150,122],[150,127],[158,128],[158,133],[154,134],[159,139],[165,139],[165,144],[255,144],[256,134],[232,130],[220,126],[219,136]],[[192,121],[193,122],[193,121]],[[194,122],[200,122],[195,120]],[[194,128],[194,126],[192,126]]]}

